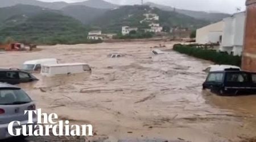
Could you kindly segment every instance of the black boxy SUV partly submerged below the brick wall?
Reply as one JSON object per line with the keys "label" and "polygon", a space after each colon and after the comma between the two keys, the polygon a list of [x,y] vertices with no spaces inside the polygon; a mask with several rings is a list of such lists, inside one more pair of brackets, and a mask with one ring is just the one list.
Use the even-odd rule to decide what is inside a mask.
{"label": "black boxy SUV partly submerged below the brick wall", "polygon": [[203,89],[220,95],[256,94],[256,73],[230,69],[210,72]]}

